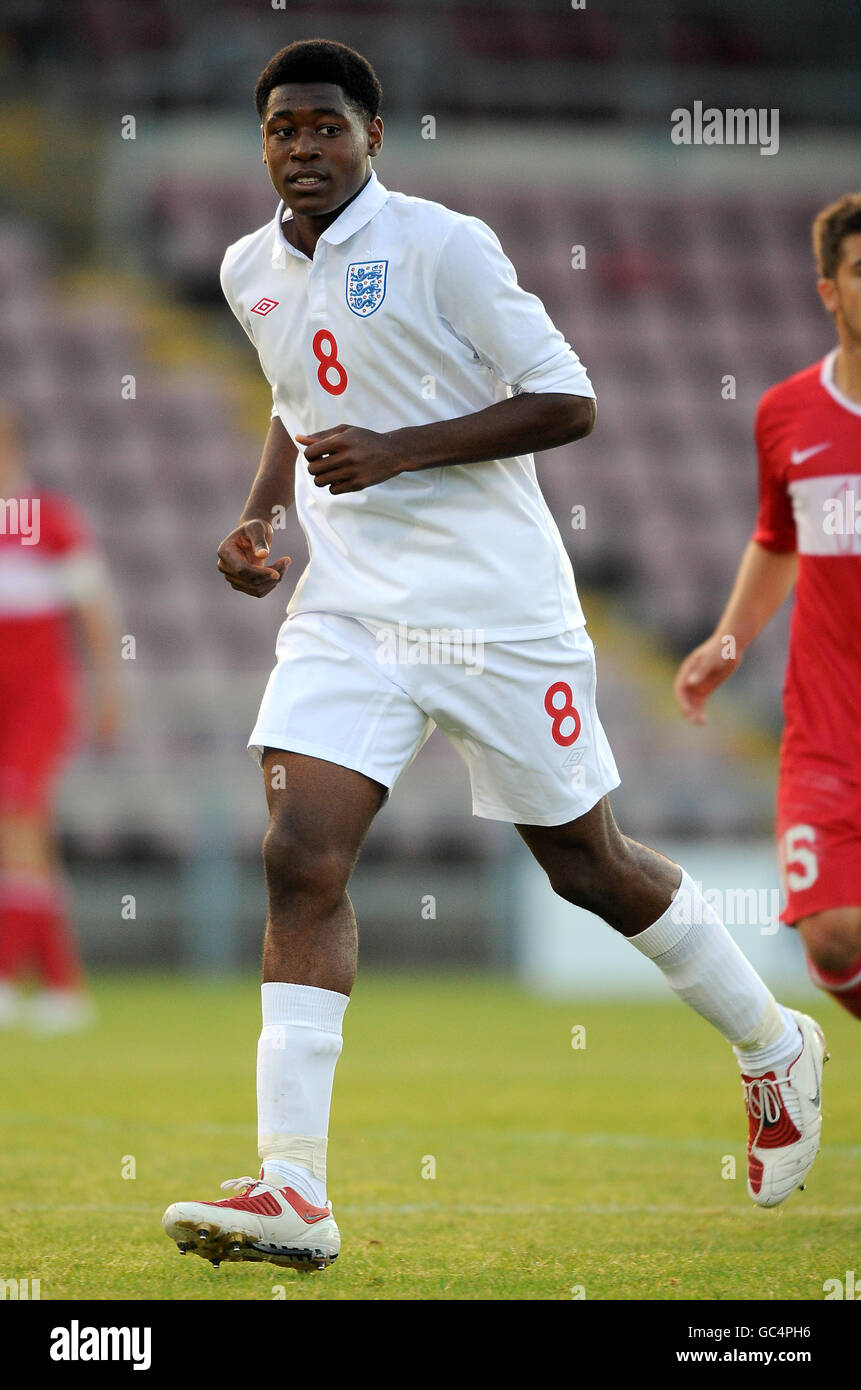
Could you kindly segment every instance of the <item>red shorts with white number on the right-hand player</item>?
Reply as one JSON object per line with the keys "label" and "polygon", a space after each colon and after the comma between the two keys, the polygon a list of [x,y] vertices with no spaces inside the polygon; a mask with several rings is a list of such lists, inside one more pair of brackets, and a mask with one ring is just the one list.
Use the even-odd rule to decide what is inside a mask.
{"label": "red shorts with white number on the right-hand player", "polygon": [[776,831],[782,922],[861,905],[861,785],[812,769],[782,771]]}

